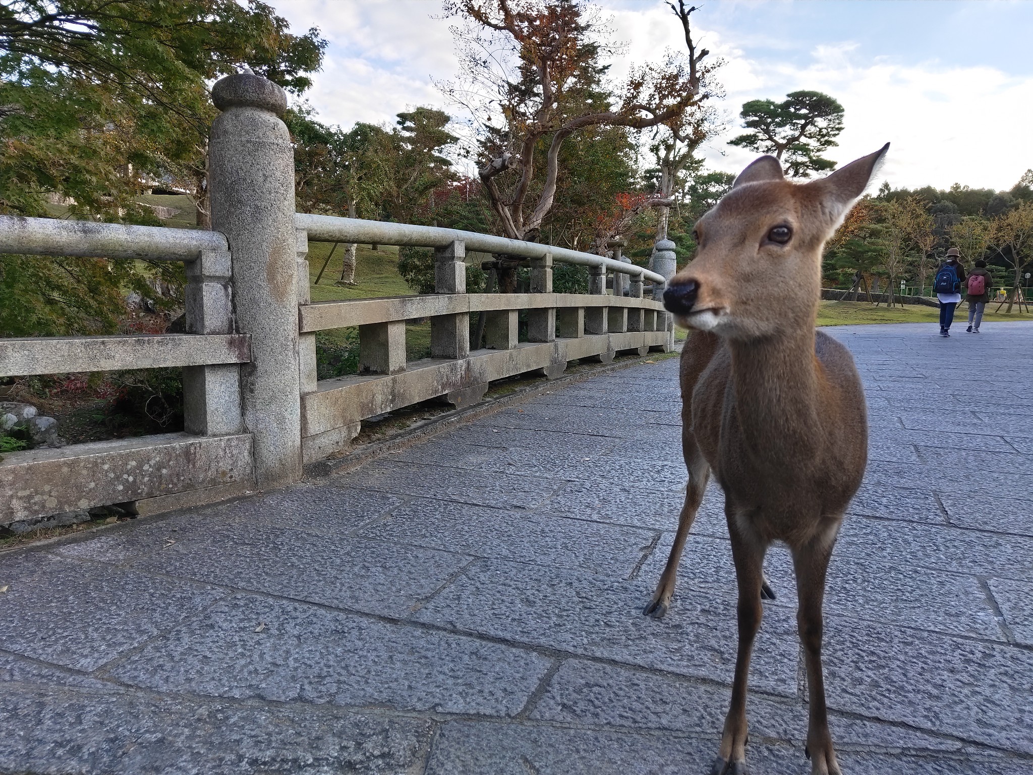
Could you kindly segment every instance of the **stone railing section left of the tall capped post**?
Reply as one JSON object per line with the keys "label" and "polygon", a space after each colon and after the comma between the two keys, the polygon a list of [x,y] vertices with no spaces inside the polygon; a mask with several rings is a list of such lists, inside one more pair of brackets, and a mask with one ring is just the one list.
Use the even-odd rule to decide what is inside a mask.
{"label": "stone railing section left of the tall capped post", "polygon": [[[216,231],[0,216],[0,252],[178,260],[186,266],[187,334],[0,339],[0,376],[182,367],[183,433],[8,453],[0,462],[0,525],[93,506],[254,481],[241,417],[230,257]],[[209,496],[216,495],[210,492]]]}

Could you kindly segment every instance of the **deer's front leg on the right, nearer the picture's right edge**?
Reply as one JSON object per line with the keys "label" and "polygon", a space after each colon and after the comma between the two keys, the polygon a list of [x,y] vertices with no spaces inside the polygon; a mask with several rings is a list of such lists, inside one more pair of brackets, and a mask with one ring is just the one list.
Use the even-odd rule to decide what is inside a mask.
{"label": "deer's front leg on the right, nearer the picture's right edge", "polygon": [[800,608],[796,625],[807,660],[807,689],[810,718],[807,730],[807,754],[811,758],[811,775],[842,775],[828,732],[828,713],[825,708],[825,682],[821,667],[821,638],[824,623],[821,603],[825,593],[825,571],[832,557],[833,545],[839,523],[823,536],[811,544],[794,549],[793,566],[796,570],[796,595]]}

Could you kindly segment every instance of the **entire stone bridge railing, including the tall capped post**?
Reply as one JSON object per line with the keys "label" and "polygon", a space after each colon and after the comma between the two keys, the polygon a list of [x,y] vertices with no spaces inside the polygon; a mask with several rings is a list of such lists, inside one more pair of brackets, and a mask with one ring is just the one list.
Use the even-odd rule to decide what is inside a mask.
{"label": "entire stone bridge railing, including the tall capped post", "polygon": [[[672,347],[669,315],[644,298],[647,280],[659,298],[664,275],[489,235],[295,213],[283,92],[248,73],[212,96],[222,112],[209,143],[213,230],[0,217],[3,253],[179,260],[188,278],[186,334],[0,339],[0,376],[182,367],[185,415],[183,433],[7,454],[0,525],[283,486],[347,447],[368,417],[435,397],[466,405],[492,380],[556,377],[569,361]],[[434,248],[436,292],[312,304],[310,241]],[[468,249],[528,260],[530,292],[467,293]],[[553,292],[554,261],[587,266],[590,292]],[[607,272],[627,296],[606,292]],[[471,312],[484,313],[480,349],[470,347]],[[407,363],[414,318],[431,320],[431,357]],[[318,380],[316,332],[346,327],[358,327],[359,373]]]}

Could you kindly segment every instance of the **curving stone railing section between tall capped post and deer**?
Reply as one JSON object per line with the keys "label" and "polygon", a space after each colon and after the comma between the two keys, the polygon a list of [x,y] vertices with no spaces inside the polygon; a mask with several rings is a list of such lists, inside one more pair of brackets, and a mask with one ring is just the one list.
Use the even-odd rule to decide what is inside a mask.
{"label": "curving stone railing section between tall capped post and deer", "polygon": [[[438,396],[464,406],[495,379],[537,372],[559,376],[568,361],[608,363],[621,351],[668,349],[674,332],[663,305],[643,298],[643,281],[663,277],[632,264],[574,250],[431,226],[296,215],[299,245],[308,241],[410,245],[435,249],[433,296],[308,303],[300,298],[302,445],[306,463],[354,438],[359,424]],[[530,260],[530,292],[467,293],[466,251]],[[553,262],[589,268],[589,293],[553,292]],[[630,278],[627,297],[606,293],[606,272]],[[302,272],[302,270],[300,270]],[[304,270],[307,277],[307,270]],[[300,289],[301,290],[301,289]],[[657,292],[657,291],[655,291]],[[518,337],[527,311],[527,341]],[[470,313],[486,313],[486,347],[471,349]],[[406,363],[406,321],[431,320],[431,357]],[[358,327],[359,373],[317,381],[315,332]],[[479,344],[479,342],[475,343]]]}

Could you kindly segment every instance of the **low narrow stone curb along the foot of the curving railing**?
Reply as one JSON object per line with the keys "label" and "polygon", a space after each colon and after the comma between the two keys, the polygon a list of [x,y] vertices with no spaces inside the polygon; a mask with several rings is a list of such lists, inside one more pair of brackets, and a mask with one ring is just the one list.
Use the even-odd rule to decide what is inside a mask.
{"label": "low narrow stone curb along the foot of the curving railing", "polygon": [[[672,351],[680,352],[684,340],[675,342],[675,349]],[[576,374],[567,374],[557,379],[552,379],[543,383],[538,383],[515,391],[505,396],[487,399],[464,409],[453,409],[443,414],[439,414],[436,417],[421,421],[419,424],[399,431],[388,438],[363,444],[340,458],[309,463],[305,466],[305,479],[307,482],[311,482],[313,479],[333,476],[337,473],[345,473],[357,468],[370,460],[379,458],[382,455],[405,450],[431,436],[436,436],[439,433],[444,433],[445,431],[465,425],[466,423],[472,423],[475,420],[480,420],[481,417],[494,414],[501,409],[522,404],[525,401],[537,398],[544,393],[552,392],[554,390],[562,390],[568,385],[584,382],[587,379],[592,379],[593,377],[597,377],[602,374],[621,371],[622,369],[627,369],[632,366],[640,366],[646,361],[656,357],[669,358],[670,355],[668,353],[653,352],[643,358],[622,361],[621,363],[590,367],[584,371],[578,371]]]}

